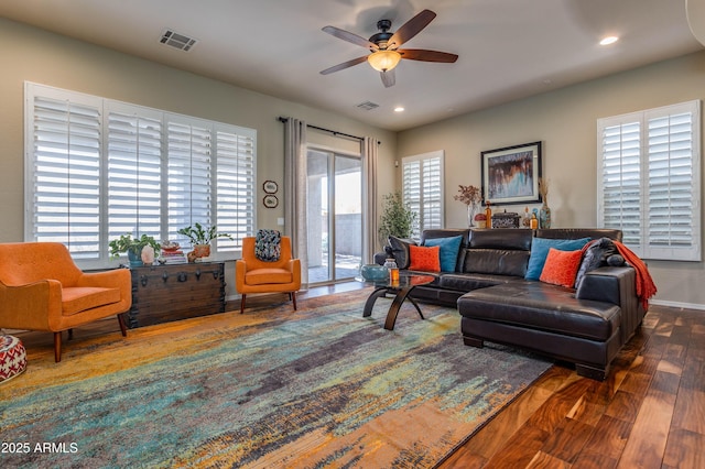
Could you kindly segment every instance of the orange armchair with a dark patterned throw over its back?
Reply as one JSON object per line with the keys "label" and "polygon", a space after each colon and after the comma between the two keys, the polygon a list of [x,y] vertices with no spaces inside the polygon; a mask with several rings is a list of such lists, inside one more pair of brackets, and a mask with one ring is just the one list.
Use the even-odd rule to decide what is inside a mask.
{"label": "orange armchair with a dark patterned throw over its back", "polygon": [[254,255],[254,237],[242,238],[242,259],[235,262],[235,287],[241,295],[240,313],[245,313],[248,293],[289,293],[296,309],[296,292],[301,288],[301,261],[292,259],[291,238],[281,238],[276,262],[264,262]]}

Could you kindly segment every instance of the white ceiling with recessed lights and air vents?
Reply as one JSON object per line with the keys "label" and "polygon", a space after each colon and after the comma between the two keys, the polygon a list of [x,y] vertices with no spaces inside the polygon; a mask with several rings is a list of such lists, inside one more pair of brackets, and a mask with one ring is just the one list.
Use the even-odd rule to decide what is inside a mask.
{"label": "white ceiling with recessed lights and air vents", "polygon": [[[437,18],[404,46],[458,54],[455,64],[402,61],[391,88],[367,63],[319,74],[367,54],[323,26],[367,39],[378,20],[395,31],[423,9]],[[703,48],[686,0],[2,0],[0,15],[389,130]],[[165,29],[198,43],[164,46]],[[608,34],[621,40],[599,46]]]}

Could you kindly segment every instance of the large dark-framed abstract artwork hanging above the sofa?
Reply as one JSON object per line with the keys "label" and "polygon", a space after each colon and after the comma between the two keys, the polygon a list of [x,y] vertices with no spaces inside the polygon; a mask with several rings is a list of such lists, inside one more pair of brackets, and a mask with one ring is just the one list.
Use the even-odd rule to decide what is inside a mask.
{"label": "large dark-framed abstract artwork hanging above the sofa", "polygon": [[541,142],[481,152],[482,199],[491,205],[541,201]]}

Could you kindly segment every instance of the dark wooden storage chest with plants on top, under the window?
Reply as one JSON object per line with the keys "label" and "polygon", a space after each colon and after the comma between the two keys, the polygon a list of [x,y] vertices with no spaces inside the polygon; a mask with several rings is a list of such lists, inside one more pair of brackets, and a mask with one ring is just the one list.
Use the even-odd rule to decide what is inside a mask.
{"label": "dark wooden storage chest with plants on top, under the window", "polygon": [[129,328],[225,312],[225,263],[152,265],[130,269]]}

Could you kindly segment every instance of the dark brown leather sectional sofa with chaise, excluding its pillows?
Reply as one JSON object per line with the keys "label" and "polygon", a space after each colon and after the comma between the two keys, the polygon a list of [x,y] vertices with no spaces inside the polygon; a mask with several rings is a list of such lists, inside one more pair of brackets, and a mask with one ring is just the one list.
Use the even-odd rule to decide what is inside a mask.
{"label": "dark brown leather sectional sofa with chaise, excluding its pillows", "polygon": [[[457,306],[468,346],[491,341],[520,347],[575,363],[577,373],[604,380],[609,364],[641,325],[646,314],[637,297],[632,266],[603,265],[584,273],[577,288],[527,280],[532,242],[553,240],[621,241],[608,229],[440,229],[426,230],[420,244],[462,237],[453,271],[434,273],[432,284],[417,286],[415,299]],[[409,265],[405,242],[390,239],[400,268]],[[547,241],[550,242],[550,241]],[[539,244],[536,242],[536,244]],[[612,264],[619,264],[611,262]]]}

